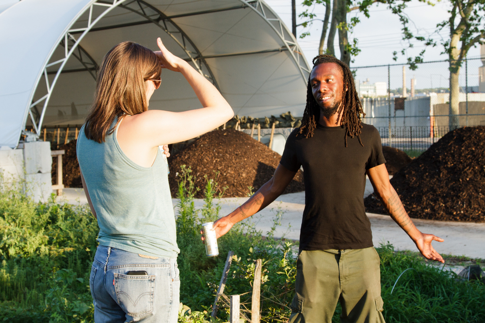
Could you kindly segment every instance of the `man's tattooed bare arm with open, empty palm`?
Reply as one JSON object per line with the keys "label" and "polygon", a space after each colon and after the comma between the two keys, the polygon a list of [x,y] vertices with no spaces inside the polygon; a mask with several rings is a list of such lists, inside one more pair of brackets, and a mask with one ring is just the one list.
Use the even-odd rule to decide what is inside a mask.
{"label": "man's tattooed bare arm with open, empty palm", "polygon": [[384,164],[367,170],[367,175],[374,187],[374,193],[379,196],[381,202],[388,210],[392,219],[409,235],[414,241],[421,254],[430,260],[445,262],[443,257],[436,252],[431,245],[433,240],[443,242],[444,240],[433,234],[421,233],[404,210],[404,205],[397,195],[396,190],[389,182],[389,174]]}

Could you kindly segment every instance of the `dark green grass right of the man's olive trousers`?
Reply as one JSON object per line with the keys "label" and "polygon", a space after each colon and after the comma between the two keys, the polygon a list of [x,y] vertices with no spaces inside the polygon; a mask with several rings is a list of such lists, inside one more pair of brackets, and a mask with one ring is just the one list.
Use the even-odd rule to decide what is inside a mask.
{"label": "dark green grass right of the man's olive trousers", "polygon": [[[484,322],[485,285],[461,281],[443,267],[430,266],[413,253],[378,249],[386,322]],[[397,277],[399,279],[391,294]]]}

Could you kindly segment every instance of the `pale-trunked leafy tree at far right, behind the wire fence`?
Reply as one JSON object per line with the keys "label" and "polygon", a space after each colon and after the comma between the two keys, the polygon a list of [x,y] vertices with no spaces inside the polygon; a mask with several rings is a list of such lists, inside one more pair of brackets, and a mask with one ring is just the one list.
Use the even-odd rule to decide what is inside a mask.
{"label": "pale-trunked leafy tree at far right, behind the wire fence", "polygon": [[[409,19],[403,13],[406,7],[406,2],[391,3],[390,7],[394,13],[400,16],[403,23],[403,39],[416,39],[420,42],[425,42],[426,46],[436,46],[434,37],[427,38],[414,35],[407,27]],[[429,3],[429,2],[428,2]],[[432,4],[432,3],[429,3]],[[449,17],[443,22],[436,25],[435,33],[449,28],[449,38],[442,38],[440,40],[443,46],[442,54],[448,55],[449,70],[450,70],[450,130],[456,129],[459,126],[458,114],[459,109],[459,93],[460,86],[458,77],[460,76],[460,68],[463,61],[467,57],[467,53],[472,46],[477,46],[485,42],[485,0],[450,0],[451,9],[448,11]],[[412,44],[410,43],[412,47]],[[408,58],[408,63],[411,69],[416,69],[417,62],[422,62],[423,55],[426,48],[414,58]],[[405,54],[405,51],[401,51]],[[394,52],[394,59],[396,60],[396,52]]]}

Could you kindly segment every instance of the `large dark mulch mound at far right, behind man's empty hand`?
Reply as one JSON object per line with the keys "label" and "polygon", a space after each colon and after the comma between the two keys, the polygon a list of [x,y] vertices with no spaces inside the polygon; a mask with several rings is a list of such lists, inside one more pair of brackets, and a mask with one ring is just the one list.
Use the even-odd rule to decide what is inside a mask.
{"label": "large dark mulch mound at far right, behind man's empty hand", "polygon": [[[409,216],[485,222],[485,127],[453,130],[397,172],[391,184]],[[366,211],[386,214],[369,196]]]}

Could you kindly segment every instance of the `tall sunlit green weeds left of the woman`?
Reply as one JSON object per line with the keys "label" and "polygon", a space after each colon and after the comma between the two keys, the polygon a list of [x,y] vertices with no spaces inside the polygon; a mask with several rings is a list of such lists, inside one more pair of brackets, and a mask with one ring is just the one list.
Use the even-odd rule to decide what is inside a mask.
{"label": "tall sunlit green weeds left of the woman", "polygon": [[21,185],[0,189],[0,320],[87,322],[97,222],[87,205],[34,203]]}

